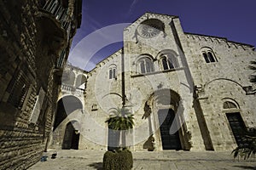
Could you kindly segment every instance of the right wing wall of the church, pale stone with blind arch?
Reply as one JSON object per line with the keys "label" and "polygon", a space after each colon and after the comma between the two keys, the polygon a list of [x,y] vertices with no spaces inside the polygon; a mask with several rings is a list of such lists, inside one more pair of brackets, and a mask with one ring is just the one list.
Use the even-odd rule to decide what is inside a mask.
{"label": "right wing wall of the church, pale stone with blind arch", "polygon": [[[236,140],[225,114],[240,112],[246,126],[255,127],[254,94],[245,90],[249,86],[254,88],[248,78],[253,73],[248,65],[256,59],[253,47],[225,38],[192,34],[187,34],[183,44],[214,150],[232,150]],[[218,62],[207,63],[201,48],[211,48]],[[231,99],[239,108],[224,110],[225,99]]]}

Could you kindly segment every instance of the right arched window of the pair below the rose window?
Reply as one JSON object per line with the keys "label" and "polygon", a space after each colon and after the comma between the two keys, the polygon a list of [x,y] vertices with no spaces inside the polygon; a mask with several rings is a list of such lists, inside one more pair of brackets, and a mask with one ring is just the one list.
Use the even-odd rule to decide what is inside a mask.
{"label": "right arched window of the pair below the rose window", "polygon": [[178,67],[177,58],[171,53],[161,54],[160,61],[162,70],[172,70]]}

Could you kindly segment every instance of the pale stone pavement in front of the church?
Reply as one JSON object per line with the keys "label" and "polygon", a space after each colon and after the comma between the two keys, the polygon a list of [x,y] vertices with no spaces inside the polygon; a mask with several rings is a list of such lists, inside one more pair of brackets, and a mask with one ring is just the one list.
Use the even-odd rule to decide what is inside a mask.
{"label": "pale stone pavement in front of the church", "polygon": [[[54,150],[47,152],[51,156]],[[105,151],[57,150],[55,159],[38,161],[29,170],[90,170],[102,169]],[[133,170],[214,170],[214,169],[255,169],[256,159],[234,161],[230,152],[195,151],[135,151]]]}

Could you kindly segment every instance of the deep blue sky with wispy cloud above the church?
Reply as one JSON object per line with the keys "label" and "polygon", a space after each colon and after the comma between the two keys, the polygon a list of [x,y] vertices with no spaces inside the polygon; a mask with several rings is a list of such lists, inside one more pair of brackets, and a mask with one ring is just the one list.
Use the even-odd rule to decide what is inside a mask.
{"label": "deep blue sky with wispy cloud above the church", "polygon": [[146,12],[177,15],[184,32],[256,46],[256,0],[83,0],[68,61],[86,71],[122,48],[122,34]]}

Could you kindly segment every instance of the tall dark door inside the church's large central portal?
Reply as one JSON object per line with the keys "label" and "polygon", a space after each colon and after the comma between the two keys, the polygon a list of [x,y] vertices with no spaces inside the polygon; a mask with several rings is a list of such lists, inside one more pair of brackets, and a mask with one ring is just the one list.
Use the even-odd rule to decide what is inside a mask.
{"label": "tall dark door inside the church's large central portal", "polygon": [[172,124],[177,127],[177,121],[174,120],[175,112],[172,109],[164,109],[158,111],[158,119],[160,124],[160,135],[163,150],[181,150],[181,143],[177,132],[170,134]]}

